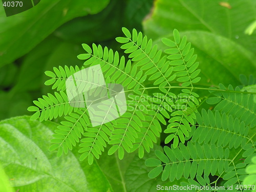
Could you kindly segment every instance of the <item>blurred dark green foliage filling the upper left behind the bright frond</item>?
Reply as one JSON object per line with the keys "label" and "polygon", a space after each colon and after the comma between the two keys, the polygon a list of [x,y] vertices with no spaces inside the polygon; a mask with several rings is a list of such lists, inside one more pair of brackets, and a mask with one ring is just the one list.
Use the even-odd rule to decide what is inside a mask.
{"label": "blurred dark green foliage filling the upper left behind the bright frond", "polygon": [[[0,120],[31,115],[32,100],[52,92],[46,70],[82,66],[82,43],[120,50],[115,38],[123,26],[142,30],[153,0],[42,1],[6,17],[0,10]],[[2,28],[2,26],[4,26]]]}

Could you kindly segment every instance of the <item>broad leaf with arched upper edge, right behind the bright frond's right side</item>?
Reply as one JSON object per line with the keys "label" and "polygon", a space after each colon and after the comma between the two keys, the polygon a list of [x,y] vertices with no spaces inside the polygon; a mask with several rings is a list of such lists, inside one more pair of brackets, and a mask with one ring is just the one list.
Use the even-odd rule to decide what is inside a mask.
{"label": "broad leaf with arched upper edge, right behind the bright frond's right side", "polygon": [[[240,84],[240,74],[247,76],[251,73],[255,74],[255,55],[236,42],[199,30],[180,32],[180,34],[187,36],[191,47],[195,48],[195,53],[198,55],[197,61],[200,63],[198,68],[201,69],[200,77],[202,77],[200,82],[208,86],[218,86],[219,83],[237,86]],[[173,38],[171,36],[166,37]],[[160,39],[155,40],[154,43],[158,44],[159,49],[169,49]],[[172,62],[170,64],[172,65]],[[176,66],[174,71],[179,71],[181,66]]]}

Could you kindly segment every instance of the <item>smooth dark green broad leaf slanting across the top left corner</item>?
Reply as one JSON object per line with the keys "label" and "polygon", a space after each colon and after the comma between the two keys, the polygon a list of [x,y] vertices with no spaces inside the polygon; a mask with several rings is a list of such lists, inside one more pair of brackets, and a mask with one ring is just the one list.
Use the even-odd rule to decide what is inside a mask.
{"label": "smooth dark green broad leaf slanting across the top left corner", "polygon": [[28,53],[42,39],[72,18],[95,14],[109,0],[89,1],[41,1],[22,13],[6,17],[0,10],[0,66]]}

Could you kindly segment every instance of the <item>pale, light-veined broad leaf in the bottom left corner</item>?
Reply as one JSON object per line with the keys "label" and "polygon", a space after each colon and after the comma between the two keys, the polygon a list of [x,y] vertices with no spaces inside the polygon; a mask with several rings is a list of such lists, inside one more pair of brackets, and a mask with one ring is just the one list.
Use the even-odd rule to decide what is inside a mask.
{"label": "pale, light-veined broad leaf in the bottom left corner", "polygon": [[29,119],[24,116],[0,122],[0,162],[15,190],[112,191],[96,163],[89,166],[78,160],[76,148],[59,158],[57,152],[49,152],[56,123]]}

